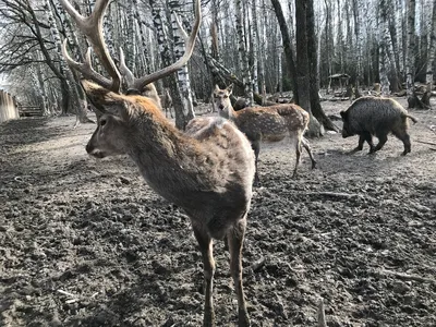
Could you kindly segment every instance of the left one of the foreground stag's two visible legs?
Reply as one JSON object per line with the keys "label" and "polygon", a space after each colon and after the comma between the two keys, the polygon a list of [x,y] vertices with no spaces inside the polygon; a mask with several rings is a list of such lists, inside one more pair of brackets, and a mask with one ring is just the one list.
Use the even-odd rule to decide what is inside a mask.
{"label": "left one of the foreground stag's two visible legs", "polygon": [[199,251],[203,256],[203,270],[205,279],[205,311],[203,316],[204,327],[215,326],[215,312],[213,302],[215,261],[213,254],[213,241],[204,228],[193,223],[194,235],[198,242]]}

